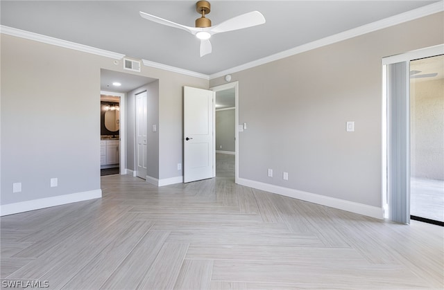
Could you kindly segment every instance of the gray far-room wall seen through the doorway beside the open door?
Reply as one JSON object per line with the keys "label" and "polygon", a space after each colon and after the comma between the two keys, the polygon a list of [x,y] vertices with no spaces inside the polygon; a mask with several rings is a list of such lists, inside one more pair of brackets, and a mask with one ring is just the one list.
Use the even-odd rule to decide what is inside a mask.
{"label": "gray far-room wall seen through the doorway beside the open door", "polygon": [[234,109],[216,111],[216,150],[236,151],[234,146],[235,134]]}

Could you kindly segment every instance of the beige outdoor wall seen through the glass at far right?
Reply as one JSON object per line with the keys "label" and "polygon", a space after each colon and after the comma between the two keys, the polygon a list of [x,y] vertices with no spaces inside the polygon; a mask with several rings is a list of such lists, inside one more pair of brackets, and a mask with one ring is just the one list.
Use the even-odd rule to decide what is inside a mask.
{"label": "beige outdoor wall seen through the glass at far right", "polygon": [[411,176],[444,180],[444,79],[411,82]]}

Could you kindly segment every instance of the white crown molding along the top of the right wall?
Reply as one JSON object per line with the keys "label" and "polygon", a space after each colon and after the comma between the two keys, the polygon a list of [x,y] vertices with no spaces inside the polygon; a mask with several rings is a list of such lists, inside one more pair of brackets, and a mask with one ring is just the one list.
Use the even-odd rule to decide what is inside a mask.
{"label": "white crown molding along the top of the right wall", "polygon": [[297,55],[299,53],[304,53],[305,51],[311,51],[312,49],[315,48],[320,48],[322,46],[327,46],[329,44],[341,42],[343,40],[350,39],[352,37],[357,37],[359,35],[371,33],[376,30],[388,28],[390,26],[395,26],[397,24],[402,24],[407,21],[411,21],[414,19],[418,19],[420,17],[425,17],[442,11],[444,11],[444,1],[439,1],[392,17],[381,19],[379,21],[375,21],[373,23],[366,24],[364,26],[359,26],[357,28],[344,31],[343,33],[338,33],[336,35],[331,35],[329,37],[325,37],[323,39],[319,39],[314,42],[309,42],[308,44],[303,44],[301,46],[291,48],[287,51],[282,51],[280,53],[276,53],[268,57],[263,57],[259,60],[254,60],[253,62],[247,62],[246,64],[241,64],[240,66],[234,66],[231,69],[220,71],[219,73],[213,73],[212,75],[210,75],[210,80],[222,77],[229,73],[237,73],[238,71],[251,69],[255,66],[260,66],[262,64],[267,64],[268,62],[274,62],[276,60],[281,60],[282,58],[285,57],[290,57],[291,55]]}

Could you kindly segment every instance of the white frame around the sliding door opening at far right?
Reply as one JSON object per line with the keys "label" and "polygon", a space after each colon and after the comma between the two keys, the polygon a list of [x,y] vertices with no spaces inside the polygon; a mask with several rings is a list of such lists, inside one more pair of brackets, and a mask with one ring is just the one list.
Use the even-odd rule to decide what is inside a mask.
{"label": "white frame around the sliding door opening at far right", "polygon": [[[386,118],[386,113],[387,113],[387,96],[386,96],[386,66],[388,64],[396,64],[396,63],[400,63],[400,62],[405,62],[407,65],[407,76],[406,78],[409,78],[409,71],[410,71],[410,62],[412,60],[418,60],[420,58],[425,58],[425,57],[433,57],[435,55],[443,55],[444,54],[444,44],[439,44],[436,46],[431,46],[431,47],[427,47],[427,48],[421,48],[418,49],[416,51],[410,51],[408,53],[402,53],[399,55],[393,55],[393,56],[389,56],[389,57],[383,57],[382,58],[382,203],[383,203],[383,207],[384,207],[384,217],[388,217],[388,210],[390,210],[391,205],[388,204],[388,192],[387,192],[387,162],[388,162],[388,158],[389,156],[387,156],[387,118]],[[407,82],[407,88],[406,88],[406,92],[409,93],[409,89],[410,89],[410,82]],[[410,100],[410,96],[405,96],[405,98],[407,100]],[[409,107],[407,108],[408,111],[405,112],[405,114],[407,114],[407,116],[409,116]],[[410,118],[409,118],[410,121]],[[410,126],[409,126],[409,121],[407,122],[407,124],[404,124],[406,130],[408,131],[407,134],[410,133]],[[407,148],[407,156],[410,156],[410,152],[409,152],[409,144],[405,144],[405,147]],[[409,157],[408,157],[409,159]],[[407,160],[406,163],[406,167],[404,168],[404,171],[409,172],[410,170],[410,161]],[[408,176],[409,178],[407,179],[407,192],[406,192],[406,199],[409,198],[409,188],[410,188],[410,176]],[[407,206],[409,206],[409,203],[407,203]],[[409,209],[408,209],[409,210]],[[409,214],[410,217],[410,214]],[[409,223],[409,218],[408,217],[408,223]]]}

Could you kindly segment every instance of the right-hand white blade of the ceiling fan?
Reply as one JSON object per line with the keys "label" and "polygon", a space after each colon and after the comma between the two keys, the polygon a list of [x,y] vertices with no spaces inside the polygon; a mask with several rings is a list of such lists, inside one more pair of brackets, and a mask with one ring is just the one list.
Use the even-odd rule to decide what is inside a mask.
{"label": "right-hand white blade of the ceiling fan", "polygon": [[225,33],[227,31],[248,28],[265,23],[265,17],[259,11],[248,12],[223,21],[221,24],[213,26],[210,31],[212,34]]}

